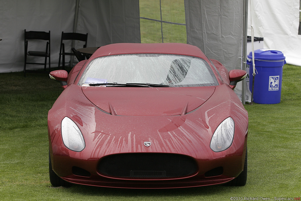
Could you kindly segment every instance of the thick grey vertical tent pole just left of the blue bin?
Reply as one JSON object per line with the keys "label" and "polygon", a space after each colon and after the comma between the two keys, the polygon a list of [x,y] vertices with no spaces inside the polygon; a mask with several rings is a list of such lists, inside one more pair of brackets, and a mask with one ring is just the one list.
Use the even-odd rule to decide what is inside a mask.
{"label": "thick grey vertical tent pole just left of the blue bin", "polygon": [[[243,22],[243,61],[242,68],[247,69],[247,31],[248,30],[248,0],[244,0],[244,22]],[[246,104],[246,79],[242,80],[241,102]]]}

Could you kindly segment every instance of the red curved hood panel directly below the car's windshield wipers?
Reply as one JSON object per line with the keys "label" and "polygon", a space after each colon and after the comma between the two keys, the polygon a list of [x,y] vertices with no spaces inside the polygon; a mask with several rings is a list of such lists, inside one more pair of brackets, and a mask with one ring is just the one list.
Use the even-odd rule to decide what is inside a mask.
{"label": "red curved hood panel directly below the car's windshield wipers", "polygon": [[203,87],[91,87],[82,92],[94,105],[112,115],[185,115],[206,102],[215,86]]}

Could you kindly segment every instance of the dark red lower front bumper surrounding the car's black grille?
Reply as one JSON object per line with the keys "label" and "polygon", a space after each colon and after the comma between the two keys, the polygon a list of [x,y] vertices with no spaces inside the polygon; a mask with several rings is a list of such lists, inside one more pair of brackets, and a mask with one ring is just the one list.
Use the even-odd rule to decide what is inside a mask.
{"label": "dark red lower front bumper surrounding the car's black grille", "polygon": [[[111,177],[98,171],[100,159],[83,160],[64,155],[51,155],[51,158],[52,168],[56,174],[73,184],[139,189],[184,188],[224,184],[231,181],[243,170],[246,147],[247,136],[244,144],[232,154],[216,159],[194,159],[197,163],[195,173],[172,178]],[[83,169],[89,174],[78,175],[78,173],[74,173],[74,167]],[[218,167],[222,167],[222,174],[213,174],[213,176],[208,174],[208,172],[214,171]]]}

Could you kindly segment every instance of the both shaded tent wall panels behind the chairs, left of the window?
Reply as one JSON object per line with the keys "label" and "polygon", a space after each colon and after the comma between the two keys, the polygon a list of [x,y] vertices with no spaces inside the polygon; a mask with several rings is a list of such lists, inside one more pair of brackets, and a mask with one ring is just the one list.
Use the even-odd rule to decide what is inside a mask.
{"label": "both shaded tent wall panels behind the chairs, left of the window", "polygon": [[[73,26],[75,16],[77,24]],[[73,27],[78,33],[88,33],[88,47],[116,42],[140,42],[139,1],[2,0],[0,73],[23,71],[24,29],[51,31],[51,68],[57,67],[61,33],[75,32]],[[82,45],[76,43],[75,48],[82,48]],[[45,51],[44,48],[42,51]],[[66,51],[70,51],[70,48]],[[33,59],[34,62],[38,60],[40,63],[44,60],[29,59]],[[26,69],[30,68],[41,66],[26,66]]]}

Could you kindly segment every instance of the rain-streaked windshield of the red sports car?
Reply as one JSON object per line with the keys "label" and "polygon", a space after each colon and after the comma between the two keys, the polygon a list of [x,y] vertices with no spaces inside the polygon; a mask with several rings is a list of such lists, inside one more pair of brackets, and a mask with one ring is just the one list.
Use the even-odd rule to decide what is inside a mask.
{"label": "rain-streaked windshield of the red sports car", "polygon": [[151,83],[174,87],[218,85],[212,69],[205,60],[166,54],[111,55],[95,58],[85,69],[79,85],[89,86],[97,83],[114,83],[114,86],[118,86],[116,83]]}

